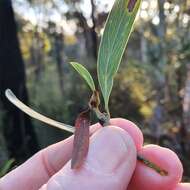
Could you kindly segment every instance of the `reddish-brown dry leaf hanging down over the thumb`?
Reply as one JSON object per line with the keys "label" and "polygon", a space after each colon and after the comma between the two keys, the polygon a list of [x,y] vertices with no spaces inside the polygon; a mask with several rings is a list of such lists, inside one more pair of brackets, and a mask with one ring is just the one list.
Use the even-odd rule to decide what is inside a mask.
{"label": "reddish-brown dry leaf hanging down over the thumb", "polygon": [[90,110],[82,112],[75,122],[71,168],[80,168],[89,147]]}

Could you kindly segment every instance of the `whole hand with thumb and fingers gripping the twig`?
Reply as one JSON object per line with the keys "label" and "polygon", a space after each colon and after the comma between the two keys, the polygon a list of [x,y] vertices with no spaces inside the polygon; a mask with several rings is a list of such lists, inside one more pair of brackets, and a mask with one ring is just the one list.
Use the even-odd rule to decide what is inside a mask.
{"label": "whole hand with thumb and fingers gripping the twig", "polygon": [[[174,152],[156,145],[143,147],[141,131],[130,121],[112,119],[111,126],[91,127],[83,166],[70,169],[73,136],[38,152],[0,179],[0,190],[189,190],[181,183],[183,168]],[[137,152],[169,172],[162,177],[136,162]]]}

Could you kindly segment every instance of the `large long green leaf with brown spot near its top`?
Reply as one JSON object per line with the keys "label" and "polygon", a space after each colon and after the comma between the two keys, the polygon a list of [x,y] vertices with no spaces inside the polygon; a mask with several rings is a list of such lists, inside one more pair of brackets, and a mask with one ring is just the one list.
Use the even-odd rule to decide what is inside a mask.
{"label": "large long green leaf with brown spot near its top", "polygon": [[109,113],[113,79],[124,54],[141,0],[116,0],[106,22],[98,54],[98,80]]}

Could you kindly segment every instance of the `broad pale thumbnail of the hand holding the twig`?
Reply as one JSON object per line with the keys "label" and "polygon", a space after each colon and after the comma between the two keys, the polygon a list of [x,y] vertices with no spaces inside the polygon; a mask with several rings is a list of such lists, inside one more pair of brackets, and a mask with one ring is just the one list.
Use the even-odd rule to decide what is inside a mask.
{"label": "broad pale thumbnail of the hand holding the twig", "polygon": [[124,130],[118,127],[102,128],[91,138],[86,166],[104,174],[113,173],[126,160],[132,143]]}

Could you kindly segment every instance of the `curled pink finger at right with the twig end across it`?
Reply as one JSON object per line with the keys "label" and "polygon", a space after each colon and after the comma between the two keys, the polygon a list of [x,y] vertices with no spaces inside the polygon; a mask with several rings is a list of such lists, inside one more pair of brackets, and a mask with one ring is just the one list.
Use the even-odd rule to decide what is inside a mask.
{"label": "curled pink finger at right with the twig end across it", "polygon": [[129,190],[168,190],[173,189],[181,181],[183,167],[177,155],[171,150],[157,145],[148,145],[138,154],[168,171],[168,176],[161,176],[153,169],[137,162]]}

